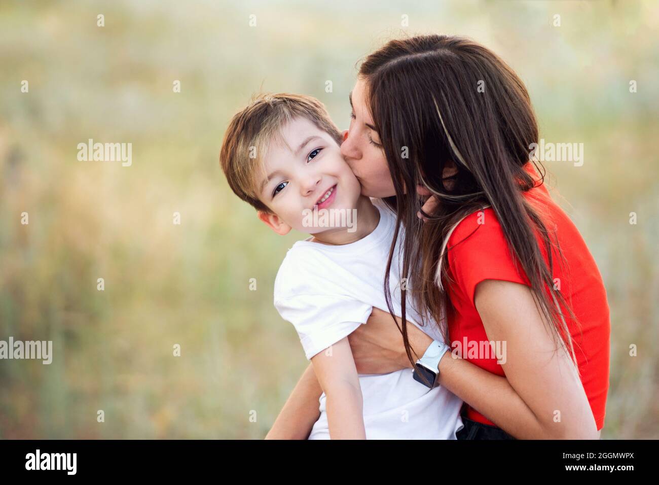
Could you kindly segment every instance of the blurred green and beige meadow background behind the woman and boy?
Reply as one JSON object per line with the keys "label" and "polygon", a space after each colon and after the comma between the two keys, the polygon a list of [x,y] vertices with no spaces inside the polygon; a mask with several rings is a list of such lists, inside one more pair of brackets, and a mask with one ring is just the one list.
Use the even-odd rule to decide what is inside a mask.
{"label": "blurred green and beige meadow background behind the woman and boy", "polygon": [[[317,96],[346,128],[357,61],[428,32],[499,53],[541,136],[584,143],[583,166],[546,166],[608,291],[602,436],[659,437],[658,28],[659,5],[633,0],[3,0],[0,340],[53,340],[54,356],[0,361],[0,437],[265,436],[307,364],[272,305],[306,236],[231,193],[223,131],[258,91]],[[79,162],[90,138],[132,143],[132,166]]]}

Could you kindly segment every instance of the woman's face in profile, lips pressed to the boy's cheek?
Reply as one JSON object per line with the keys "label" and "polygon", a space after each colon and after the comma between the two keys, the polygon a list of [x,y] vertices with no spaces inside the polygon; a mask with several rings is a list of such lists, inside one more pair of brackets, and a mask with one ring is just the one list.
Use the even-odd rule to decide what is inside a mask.
{"label": "woman's face in profile, lips pressed to the boy's cheek", "polygon": [[353,108],[350,129],[343,133],[341,154],[353,169],[362,185],[362,195],[368,197],[391,197],[396,195],[387,166],[387,158],[380,145],[365,98],[366,82],[357,80],[350,96]]}

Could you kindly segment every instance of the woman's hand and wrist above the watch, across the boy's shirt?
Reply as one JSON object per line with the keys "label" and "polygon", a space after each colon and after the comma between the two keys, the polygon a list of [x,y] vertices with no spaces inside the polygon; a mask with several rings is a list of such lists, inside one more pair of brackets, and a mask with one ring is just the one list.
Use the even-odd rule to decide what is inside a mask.
{"label": "woman's hand and wrist above the watch, across the boy's shirt", "polygon": [[[396,321],[401,325],[399,317]],[[432,339],[409,320],[407,336],[413,357],[416,353],[420,358],[432,343]],[[384,374],[412,367],[405,354],[403,335],[388,311],[374,307],[366,325],[360,325],[348,336],[348,341],[360,374]]]}

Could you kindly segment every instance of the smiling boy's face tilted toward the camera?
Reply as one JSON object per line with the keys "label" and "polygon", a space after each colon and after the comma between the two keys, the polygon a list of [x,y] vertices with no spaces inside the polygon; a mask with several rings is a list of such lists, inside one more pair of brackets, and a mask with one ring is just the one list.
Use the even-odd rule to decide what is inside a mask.
{"label": "smiling boy's face tilted toward the camera", "polygon": [[303,117],[287,123],[281,129],[281,139],[285,144],[273,141],[268,148],[266,176],[256,181],[260,201],[273,212],[259,212],[259,218],[278,234],[291,228],[308,234],[341,230],[303,224],[309,220],[305,214],[314,206],[317,210],[357,207],[361,187],[343,160],[341,148],[329,133]]}

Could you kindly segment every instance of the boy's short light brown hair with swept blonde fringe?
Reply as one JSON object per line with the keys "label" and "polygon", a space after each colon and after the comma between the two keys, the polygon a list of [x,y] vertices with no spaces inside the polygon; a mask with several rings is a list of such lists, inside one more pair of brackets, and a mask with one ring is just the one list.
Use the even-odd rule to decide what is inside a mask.
{"label": "boy's short light brown hair with swept blonde fringe", "polygon": [[304,117],[341,145],[341,131],[325,106],[303,94],[259,94],[236,113],[224,135],[219,162],[231,190],[256,210],[271,212],[258,198],[256,181],[264,174],[264,154],[273,140],[281,140],[286,123]]}

